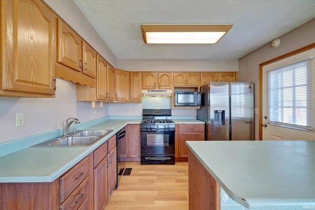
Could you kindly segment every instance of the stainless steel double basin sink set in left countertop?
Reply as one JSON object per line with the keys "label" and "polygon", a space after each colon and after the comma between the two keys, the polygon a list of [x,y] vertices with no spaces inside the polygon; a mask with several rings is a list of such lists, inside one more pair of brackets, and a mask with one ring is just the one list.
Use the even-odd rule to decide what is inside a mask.
{"label": "stainless steel double basin sink set in left countertop", "polygon": [[103,138],[113,130],[82,130],[76,133],[54,138],[33,147],[89,147],[98,139]]}

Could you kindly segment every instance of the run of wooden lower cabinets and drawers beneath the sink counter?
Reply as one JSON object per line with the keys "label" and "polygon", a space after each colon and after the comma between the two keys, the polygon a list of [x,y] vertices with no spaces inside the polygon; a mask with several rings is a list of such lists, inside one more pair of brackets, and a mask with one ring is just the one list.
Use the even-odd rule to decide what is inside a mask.
{"label": "run of wooden lower cabinets and drawers beneath the sink counter", "polygon": [[116,187],[116,135],[53,182],[0,183],[1,210],[102,210]]}

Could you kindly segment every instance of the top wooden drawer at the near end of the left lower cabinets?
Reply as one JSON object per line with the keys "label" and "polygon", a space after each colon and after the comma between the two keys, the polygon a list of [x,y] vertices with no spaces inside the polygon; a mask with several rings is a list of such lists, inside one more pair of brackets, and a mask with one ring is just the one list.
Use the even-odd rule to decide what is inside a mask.
{"label": "top wooden drawer at the near end of the left lower cabinets", "polygon": [[60,178],[60,203],[89,175],[89,156]]}

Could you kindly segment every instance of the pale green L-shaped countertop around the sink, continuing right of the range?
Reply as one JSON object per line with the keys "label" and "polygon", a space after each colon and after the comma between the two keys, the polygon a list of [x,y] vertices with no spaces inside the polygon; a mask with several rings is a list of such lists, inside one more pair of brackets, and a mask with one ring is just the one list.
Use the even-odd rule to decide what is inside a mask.
{"label": "pale green L-shaped countertop around the sink, continuing right of the range", "polygon": [[[174,121],[176,123],[204,123],[199,120]],[[27,137],[26,140],[21,139],[14,144],[22,145],[24,142],[27,142],[27,144],[31,146],[21,150],[13,150],[13,152],[0,156],[0,182],[52,182],[90,154],[93,150],[106,142],[127,124],[139,124],[140,122],[141,120],[133,119],[106,120],[92,126],[84,127],[84,129],[113,130],[107,136],[97,140],[90,147],[34,148],[32,145],[40,143],[38,141],[40,141],[40,138],[43,135],[35,135],[37,138],[36,140],[33,140],[32,136]],[[83,128],[80,128],[80,130],[82,129]],[[51,138],[55,137],[57,136],[52,136]],[[31,143],[32,141],[34,142],[33,144]],[[11,150],[11,148],[10,142],[6,142],[2,145],[0,144],[0,150],[2,151]]]}

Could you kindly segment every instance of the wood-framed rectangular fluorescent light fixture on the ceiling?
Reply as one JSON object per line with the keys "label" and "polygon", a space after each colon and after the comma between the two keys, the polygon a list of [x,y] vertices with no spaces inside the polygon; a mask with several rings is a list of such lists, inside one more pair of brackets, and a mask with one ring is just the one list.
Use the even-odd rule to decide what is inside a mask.
{"label": "wood-framed rectangular fluorescent light fixture on the ceiling", "polygon": [[232,25],[141,25],[146,44],[216,44]]}

